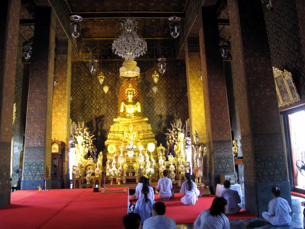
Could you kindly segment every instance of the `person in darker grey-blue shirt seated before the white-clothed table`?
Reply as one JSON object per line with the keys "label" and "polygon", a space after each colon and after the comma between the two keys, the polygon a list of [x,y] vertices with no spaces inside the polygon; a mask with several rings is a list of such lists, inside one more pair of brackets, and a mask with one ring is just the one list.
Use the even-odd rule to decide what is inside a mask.
{"label": "person in darker grey-blue shirt seated before the white-clothed table", "polygon": [[224,181],[224,186],[225,190],[222,191],[219,197],[224,197],[228,202],[226,214],[237,214],[241,209],[238,205],[241,203],[240,196],[236,190],[231,189],[230,181]]}

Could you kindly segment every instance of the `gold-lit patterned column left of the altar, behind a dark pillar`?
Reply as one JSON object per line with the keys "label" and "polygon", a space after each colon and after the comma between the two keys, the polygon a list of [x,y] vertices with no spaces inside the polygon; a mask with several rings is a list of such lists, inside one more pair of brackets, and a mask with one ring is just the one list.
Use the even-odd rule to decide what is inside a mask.
{"label": "gold-lit patterned column left of the altar, behind a dark pillar", "polygon": [[64,141],[66,152],[63,161],[65,188],[70,188],[69,177],[69,135],[70,135],[70,94],[71,94],[71,53],[70,40],[58,40],[56,46],[55,79],[53,88],[52,138]]}

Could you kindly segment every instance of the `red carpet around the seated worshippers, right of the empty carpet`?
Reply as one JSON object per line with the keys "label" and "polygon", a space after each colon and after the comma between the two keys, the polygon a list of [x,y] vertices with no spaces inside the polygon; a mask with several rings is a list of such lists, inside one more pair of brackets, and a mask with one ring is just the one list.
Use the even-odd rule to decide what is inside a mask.
{"label": "red carpet around the seated worshippers, right of the empty carpet", "polygon": [[[166,206],[165,216],[173,218],[176,221],[176,224],[194,223],[200,212],[210,208],[213,199],[217,197],[216,195],[204,195],[198,197],[196,205],[188,206],[181,203],[180,199],[182,196],[182,193],[175,193],[175,198],[170,199],[169,201],[161,201],[158,195],[155,195],[155,202],[161,201]],[[257,216],[250,214],[245,210],[241,210],[236,215],[226,216],[229,220],[257,218]]]}

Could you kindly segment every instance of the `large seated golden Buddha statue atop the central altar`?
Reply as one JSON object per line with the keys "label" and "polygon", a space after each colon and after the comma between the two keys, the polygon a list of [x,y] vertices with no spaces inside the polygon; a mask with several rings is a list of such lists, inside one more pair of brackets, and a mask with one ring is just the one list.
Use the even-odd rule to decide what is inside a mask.
{"label": "large seated golden Buddha statue atop the central altar", "polygon": [[129,84],[126,90],[128,99],[120,101],[119,114],[114,123],[146,123],[148,119],[141,116],[141,103],[134,99],[135,89]]}

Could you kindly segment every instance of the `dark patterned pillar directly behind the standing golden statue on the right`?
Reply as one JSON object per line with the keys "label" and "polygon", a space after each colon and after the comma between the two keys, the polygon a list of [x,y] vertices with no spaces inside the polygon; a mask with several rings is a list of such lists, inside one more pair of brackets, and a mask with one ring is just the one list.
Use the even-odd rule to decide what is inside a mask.
{"label": "dark patterned pillar directly behind the standing golden statue on the right", "polygon": [[219,53],[216,9],[202,7],[199,30],[201,71],[206,122],[208,179],[211,193],[220,173],[234,173],[234,158],[223,59]]}

